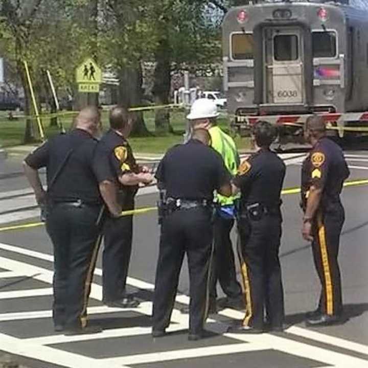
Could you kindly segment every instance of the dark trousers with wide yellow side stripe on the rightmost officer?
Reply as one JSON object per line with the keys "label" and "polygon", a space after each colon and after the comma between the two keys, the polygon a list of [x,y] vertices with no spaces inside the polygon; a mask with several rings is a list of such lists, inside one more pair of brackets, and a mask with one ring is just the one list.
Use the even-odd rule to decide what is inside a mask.
{"label": "dark trousers with wide yellow side stripe on the rightmost officer", "polygon": [[344,219],[342,205],[336,203],[330,205],[328,211],[318,212],[313,224],[313,258],[322,287],[318,309],[321,313],[329,315],[339,315],[342,312],[337,256]]}

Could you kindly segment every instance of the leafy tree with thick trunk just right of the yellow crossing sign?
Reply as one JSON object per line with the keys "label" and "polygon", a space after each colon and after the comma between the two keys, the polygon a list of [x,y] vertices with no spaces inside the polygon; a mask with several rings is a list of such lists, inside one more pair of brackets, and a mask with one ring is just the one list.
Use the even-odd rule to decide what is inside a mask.
{"label": "leafy tree with thick trunk just right of the yellow crossing sign", "polygon": [[[142,105],[142,62],[156,45],[153,1],[107,0],[104,8],[104,44],[113,70],[118,72],[119,102],[125,107]],[[142,112],[135,113],[134,135],[150,134]]]}

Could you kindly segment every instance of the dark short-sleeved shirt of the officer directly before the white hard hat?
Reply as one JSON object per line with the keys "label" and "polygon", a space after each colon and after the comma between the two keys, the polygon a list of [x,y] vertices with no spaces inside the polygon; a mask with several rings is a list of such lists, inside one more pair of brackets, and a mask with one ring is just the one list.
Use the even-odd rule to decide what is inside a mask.
{"label": "dark short-sleeved shirt of the officer directly before the white hard hat", "polygon": [[172,147],[155,176],[168,197],[188,200],[212,200],[214,190],[230,180],[221,156],[197,140]]}

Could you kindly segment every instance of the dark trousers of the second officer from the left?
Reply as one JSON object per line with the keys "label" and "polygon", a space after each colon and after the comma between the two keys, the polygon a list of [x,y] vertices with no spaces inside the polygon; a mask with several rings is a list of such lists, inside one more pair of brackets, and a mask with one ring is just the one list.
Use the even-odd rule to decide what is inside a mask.
{"label": "dark trousers of the second officer from the left", "polygon": [[133,216],[105,220],[102,256],[102,299],[121,300],[125,294],[133,234]]}

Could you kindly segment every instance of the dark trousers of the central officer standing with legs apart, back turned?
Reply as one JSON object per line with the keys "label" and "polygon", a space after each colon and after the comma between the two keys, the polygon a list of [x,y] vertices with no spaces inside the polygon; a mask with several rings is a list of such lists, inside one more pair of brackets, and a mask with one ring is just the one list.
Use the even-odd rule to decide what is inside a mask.
{"label": "dark trousers of the central officer standing with legs apart, back turned", "polygon": [[153,298],[153,329],[170,324],[185,253],[190,281],[189,331],[203,330],[208,310],[209,266],[212,250],[211,213],[204,208],[178,210],[162,224]]}

